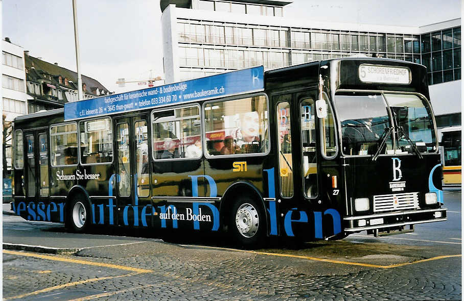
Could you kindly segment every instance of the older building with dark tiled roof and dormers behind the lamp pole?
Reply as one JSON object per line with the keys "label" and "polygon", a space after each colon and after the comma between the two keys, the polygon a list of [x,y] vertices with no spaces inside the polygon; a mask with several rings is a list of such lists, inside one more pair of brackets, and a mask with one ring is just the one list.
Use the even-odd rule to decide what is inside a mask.
{"label": "older building with dark tiled roof and dormers behind the lamp pole", "polygon": [[[62,108],[66,102],[78,100],[77,72],[34,58],[26,51],[27,93],[29,113]],[[112,94],[99,81],[82,75],[84,99]]]}

